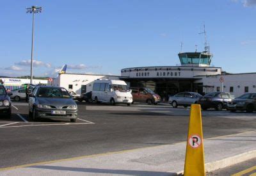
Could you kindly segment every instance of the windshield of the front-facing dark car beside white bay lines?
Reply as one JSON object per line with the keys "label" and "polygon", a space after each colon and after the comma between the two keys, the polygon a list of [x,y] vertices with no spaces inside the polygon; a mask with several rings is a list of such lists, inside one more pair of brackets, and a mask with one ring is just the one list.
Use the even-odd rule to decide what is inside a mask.
{"label": "windshield of the front-facing dark car beside white bay lines", "polygon": [[40,88],[38,97],[69,99],[70,95],[65,88]]}

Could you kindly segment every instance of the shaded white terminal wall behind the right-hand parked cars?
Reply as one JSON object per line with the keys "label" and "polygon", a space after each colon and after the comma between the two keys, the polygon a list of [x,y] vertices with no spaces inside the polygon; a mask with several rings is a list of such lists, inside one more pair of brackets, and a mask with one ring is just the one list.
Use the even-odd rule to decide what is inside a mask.
{"label": "shaded white terminal wall behind the right-hand parked cars", "polygon": [[[245,87],[248,87],[249,93],[256,92],[256,73],[246,73],[246,74],[225,74],[223,82],[223,92],[230,92],[230,87],[233,87],[234,92],[230,92],[236,97],[243,95],[245,92]],[[196,80],[195,83],[203,83],[204,86],[211,86],[209,88],[204,88],[204,92],[216,92],[217,87],[220,87],[221,75],[216,76],[198,76],[202,79]]]}

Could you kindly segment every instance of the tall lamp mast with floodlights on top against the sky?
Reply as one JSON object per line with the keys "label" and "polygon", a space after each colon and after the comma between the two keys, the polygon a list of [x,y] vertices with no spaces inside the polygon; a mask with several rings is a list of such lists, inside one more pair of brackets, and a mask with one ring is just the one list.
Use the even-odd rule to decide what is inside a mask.
{"label": "tall lamp mast with floodlights on top against the sky", "polygon": [[33,13],[31,63],[30,63],[30,84],[32,84],[32,81],[33,81],[33,52],[34,52],[34,19],[35,19],[35,13],[42,12],[42,7],[31,6],[30,8],[26,8],[26,10],[27,10],[27,13]]}

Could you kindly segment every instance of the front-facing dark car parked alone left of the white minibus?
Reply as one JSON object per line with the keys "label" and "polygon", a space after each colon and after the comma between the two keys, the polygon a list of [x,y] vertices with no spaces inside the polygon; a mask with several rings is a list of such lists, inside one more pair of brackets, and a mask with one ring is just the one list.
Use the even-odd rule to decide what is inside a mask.
{"label": "front-facing dark car parked alone left of the white minibus", "polygon": [[29,117],[76,122],[77,104],[65,88],[37,86],[29,97]]}

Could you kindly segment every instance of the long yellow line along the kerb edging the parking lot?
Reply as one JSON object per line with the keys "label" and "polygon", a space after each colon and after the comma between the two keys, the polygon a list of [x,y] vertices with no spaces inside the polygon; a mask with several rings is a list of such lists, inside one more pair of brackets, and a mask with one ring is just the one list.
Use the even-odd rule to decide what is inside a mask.
{"label": "long yellow line along the kerb edging the parking lot", "polygon": [[[246,131],[246,132],[241,132],[241,133],[237,133],[237,134],[244,134],[244,133],[248,133],[248,132],[255,132],[255,131]],[[225,135],[225,136],[216,136],[216,137],[207,138],[207,139],[204,139],[204,140],[211,140],[211,139],[214,139],[214,138],[221,138],[221,137],[232,136],[232,135],[237,135],[237,134],[228,134],[228,135]],[[164,144],[164,145],[175,145],[175,144],[179,144],[179,143],[186,143],[186,141],[173,143],[173,144]],[[95,155],[90,155],[90,156],[79,156],[79,157],[71,157],[71,158],[66,158],[66,159],[56,159],[56,160],[42,161],[42,162],[31,163],[31,164],[22,164],[22,165],[19,165],[19,166],[11,166],[11,167],[7,167],[7,168],[0,168],[0,172],[4,171],[4,170],[13,170],[13,169],[16,169],[16,168],[26,168],[26,167],[29,167],[29,166],[36,166],[36,165],[41,165],[41,164],[51,164],[51,163],[62,162],[62,161],[74,161],[76,159],[84,159],[84,158],[88,158],[88,157],[108,156],[108,155],[111,155],[111,154],[123,154],[123,153],[126,153],[126,152],[134,152],[134,151],[143,150],[143,149],[147,149],[147,148],[163,147],[164,145],[157,145],[157,146],[143,147],[143,148],[135,148],[135,149],[131,149],[131,150],[122,150],[122,151],[118,151],[118,152],[107,152],[107,153],[104,153],[104,154],[95,154]]]}

